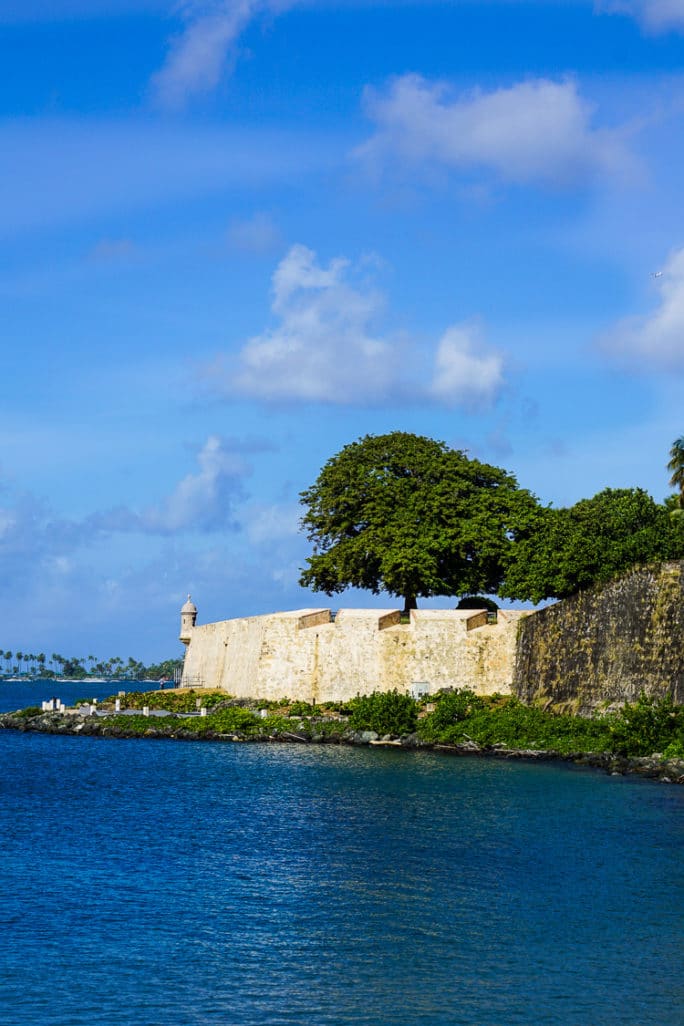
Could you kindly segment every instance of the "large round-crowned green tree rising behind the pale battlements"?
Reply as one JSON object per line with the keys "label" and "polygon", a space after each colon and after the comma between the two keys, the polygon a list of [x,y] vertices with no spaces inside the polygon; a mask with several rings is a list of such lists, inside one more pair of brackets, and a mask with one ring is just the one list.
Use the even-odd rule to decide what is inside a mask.
{"label": "large round-crowned green tree rising behind the pale battlements", "polygon": [[346,445],[300,501],[314,554],[299,583],[328,595],[495,592],[537,502],[507,471],[444,442],[396,431]]}

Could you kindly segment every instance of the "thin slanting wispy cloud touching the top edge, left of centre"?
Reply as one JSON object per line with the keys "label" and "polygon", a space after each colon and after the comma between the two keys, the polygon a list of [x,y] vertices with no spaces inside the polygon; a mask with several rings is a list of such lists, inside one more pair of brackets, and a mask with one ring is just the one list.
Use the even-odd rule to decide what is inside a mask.
{"label": "thin slanting wispy cloud touching the top edge, left of centre", "polygon": [[172,42],[152,87],[164,107],[183,107],[194,94],[210,92],[235,60],[235,46],[253,17],[279,13],[297,0],[184,0],[186,23]]}

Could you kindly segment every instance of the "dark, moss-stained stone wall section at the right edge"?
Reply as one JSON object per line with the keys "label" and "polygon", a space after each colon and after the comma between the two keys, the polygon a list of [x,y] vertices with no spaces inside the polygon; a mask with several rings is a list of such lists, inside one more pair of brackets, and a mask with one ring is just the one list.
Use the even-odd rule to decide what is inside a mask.
{"label": "dark, moss-stained stone wall section at the right edge", "polygon": [[638,569],[519,624],[513,690],[588,714],[638,698],[684,703],[684,561]]}

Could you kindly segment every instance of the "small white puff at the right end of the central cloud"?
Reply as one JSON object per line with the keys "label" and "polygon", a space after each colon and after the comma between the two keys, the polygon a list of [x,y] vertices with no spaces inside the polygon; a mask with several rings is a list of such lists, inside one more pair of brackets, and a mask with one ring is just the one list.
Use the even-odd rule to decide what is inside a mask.
{"label": "small white puff at the right end of the central cloud", "polygon": [[479,352],[479,331],[472,324],[448,328],[437,347],[432,392],[451,405],[490,402],[504,384],[498,353]]}

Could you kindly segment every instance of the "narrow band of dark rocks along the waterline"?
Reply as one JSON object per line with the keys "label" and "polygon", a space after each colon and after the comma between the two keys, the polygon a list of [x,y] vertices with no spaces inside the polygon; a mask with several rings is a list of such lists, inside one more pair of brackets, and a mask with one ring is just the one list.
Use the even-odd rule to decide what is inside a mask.
{"label": "narrow band of dark rocks along the waterline", "polygon": [[373,731],[341,729],[336,734],[316,734],[306,731],[280,731],[277,733],[218,733],[194,731],[192,720],[169,716],[152,720],[145,732],[127,728],[110,717],[80,715],[69,712],[39,712],[27,715],[27,710],[0,713],[0,729],[61,734],[98,738],[147,738],[169,741],[222,741],[243,744],[337,744],[352,746],[393,747],[405,750],[435,751],[452,756],[471,755],[484,758],[518,759],[530,762],[559,761],[591,766],[613,776],[635,775],[668,784],[684,784],[684,759],[665,759],[658,754],[630,757],[607,752],[574,752],[563,754],[549,750],[509,748],[505,745],[480,746],[475,742],[462,745],[445,745],[421,740],[416,734],[396,737]]}

